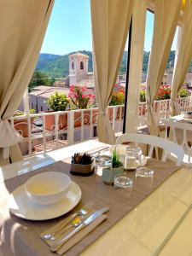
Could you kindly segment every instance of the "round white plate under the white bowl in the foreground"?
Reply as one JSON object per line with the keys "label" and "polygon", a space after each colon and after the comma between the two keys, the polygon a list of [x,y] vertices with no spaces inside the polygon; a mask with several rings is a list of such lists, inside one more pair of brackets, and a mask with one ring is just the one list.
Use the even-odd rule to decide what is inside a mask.
{"label": "round white plate under the white bowl in the foreground", "polygon": [[72,182],[67,195],[59,202],[43,206],[30,201],[26,195],[24,184],[15,189],[9,196],[9,211],[19,218],[45,220],[57,218],[70,212],[81,199],[81,189]]}

